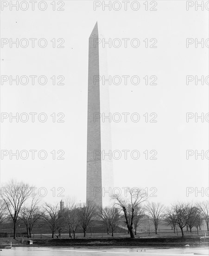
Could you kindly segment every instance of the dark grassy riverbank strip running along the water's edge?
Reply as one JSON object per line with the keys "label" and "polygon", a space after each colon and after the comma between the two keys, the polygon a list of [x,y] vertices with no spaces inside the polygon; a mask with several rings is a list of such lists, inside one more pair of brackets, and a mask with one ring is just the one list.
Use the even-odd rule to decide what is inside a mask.
{"label": "dark grassy riverbank strip running along the water's edge", "polygon": [[62,247],[62,248],[183,248],[183,247],[208,247],[209,238],[200,237],[172,237],[172,238],[87,238],[87,239],[32,239],[33,244],[27,244],[29,239],[6,239],[0,241],[0,248],[4,249],[10,246],[13,247]]}

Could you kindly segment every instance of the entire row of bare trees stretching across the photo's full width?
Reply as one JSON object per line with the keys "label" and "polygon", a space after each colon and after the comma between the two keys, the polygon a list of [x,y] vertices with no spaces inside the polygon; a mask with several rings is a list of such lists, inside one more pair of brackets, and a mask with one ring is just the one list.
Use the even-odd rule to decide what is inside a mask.
{"label": "entire row of bare trees stretching across the photo's full width", "polygon": [[98,207],[94,202],[76,203],[75,199],[65,200],[64,209],[59,204],[44,203],[40,205],[38,195],[32,193],[30,186],[24,182],[10,181],[1,189],[0,224],[10,219],[13,221],[13,238],[16,238],[17,222],[25,224],[28,238],[32,235],[32,228],[39,220],[46,223],[51,229],[52,238],[61,238],[63,232],[71,233],[75,238],[78,227],[86,236],[87,229],[93,221],[101,221],[114,236],[117,227],[126,225],[131,238],[137,235],[139,226],[146,223],[146,230],[158,232],[159,223],[164,220],[171,226],[174,233],[184,228],[198,228],[205,222],[209,231],[209,204],[207,201],[196,203],[177,202],[169,208],[161,203],[146,202],[147,197],[142,189],[128,189],[127,195],[113,195],[112,206]]}

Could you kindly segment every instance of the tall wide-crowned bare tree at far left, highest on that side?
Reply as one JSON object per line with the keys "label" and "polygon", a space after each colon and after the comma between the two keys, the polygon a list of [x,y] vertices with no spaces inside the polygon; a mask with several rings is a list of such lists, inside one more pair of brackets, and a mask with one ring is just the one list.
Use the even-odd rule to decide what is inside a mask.
{"label": "tall wide-crowned bare tree at far left, highest on that side", "polygon": [[6,204],[9,215],[13,220],[13,238],[16,239],[16,224],[19,212],[25,201],[32,196],[29,184],[11,180],[1,187],[1,198]]}

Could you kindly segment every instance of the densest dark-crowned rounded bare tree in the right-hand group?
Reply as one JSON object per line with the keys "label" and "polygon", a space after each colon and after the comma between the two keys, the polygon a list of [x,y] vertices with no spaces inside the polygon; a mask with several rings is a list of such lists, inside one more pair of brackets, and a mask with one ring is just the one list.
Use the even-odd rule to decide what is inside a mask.
{"label": "densest dark-crowned rounded bare tree in the right-hand group", "polygon": [[189,218],[192,214],[193,207],[189,203],[177,202],[172,209],[176,215],[176,224],[181,229],[184,237],[184,227],[188,225]]}

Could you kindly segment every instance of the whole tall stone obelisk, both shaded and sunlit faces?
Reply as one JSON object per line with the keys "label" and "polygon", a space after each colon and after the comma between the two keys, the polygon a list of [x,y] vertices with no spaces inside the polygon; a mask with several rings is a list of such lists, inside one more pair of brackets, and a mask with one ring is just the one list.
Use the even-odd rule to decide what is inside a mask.
{"label": "whole tall stone obelisk, both shaded and sunlit faces", "polygon": [[[99,36],[100,35],[100,36]],[[87,202],[106,206],[113,189],[111,129],[108,120],[102,122],[101,113],[109,114],[108,86],[100,83],[107,74],[105,49],[101,47],[97,23],[89,37],[88,126],[87,126]]]}

